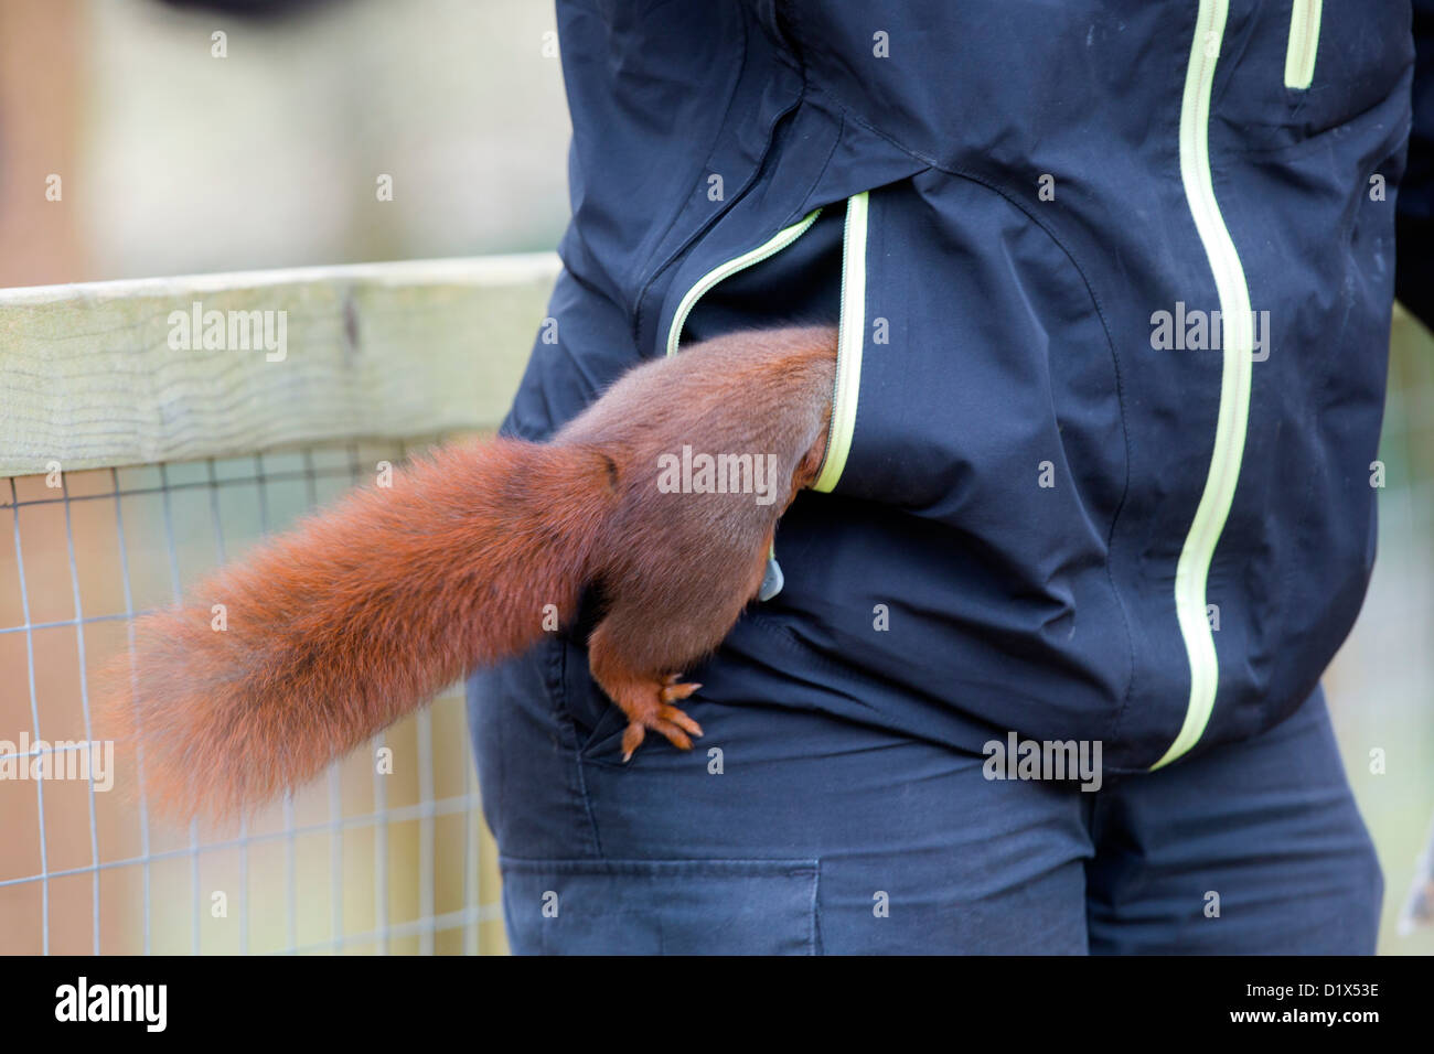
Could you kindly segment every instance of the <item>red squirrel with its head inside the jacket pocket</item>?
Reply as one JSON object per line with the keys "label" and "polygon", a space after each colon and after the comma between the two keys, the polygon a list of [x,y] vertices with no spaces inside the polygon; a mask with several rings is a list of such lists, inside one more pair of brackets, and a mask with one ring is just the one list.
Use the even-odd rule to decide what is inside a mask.
{"label": "red squirrel with its head inside the jacket pocket", "polygon": [[[757,595],[822,466],[835,373],[832,327],[724,336],[632,369],[546,443],[439,449],[139,619],[102,731],[142,749],[161,813],[232,817],[526,651],[545,614],[571,624],[598,587],[589,667],[628,717],[624,760],[648,731],[687,750],[703,730],[675,703],[701,685],[681,671]],[[774,496],[674,493],[684,447],[760,459]]]}

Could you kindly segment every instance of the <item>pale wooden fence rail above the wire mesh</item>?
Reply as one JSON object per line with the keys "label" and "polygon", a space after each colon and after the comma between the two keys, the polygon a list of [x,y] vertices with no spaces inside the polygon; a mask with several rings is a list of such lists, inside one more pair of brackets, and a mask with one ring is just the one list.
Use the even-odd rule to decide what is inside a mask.
{"label": "pale wooden fence rail above the wire mesh", "polygon": [[532,254],[0,290],[0,476],[493,427],[558,268]]}

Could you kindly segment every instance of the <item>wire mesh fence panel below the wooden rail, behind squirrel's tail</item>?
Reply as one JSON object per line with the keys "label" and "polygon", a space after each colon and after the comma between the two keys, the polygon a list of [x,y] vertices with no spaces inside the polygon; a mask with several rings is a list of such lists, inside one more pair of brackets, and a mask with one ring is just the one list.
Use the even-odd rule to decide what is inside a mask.
{"label": "wire mesh fence panel below the wooden rail, behind squirrel's tail", "polygon": [[[63,767],[92,737],[93,673],[133,619],[397,463],[407,445],[0,482],[0,951],[479,952],[502,948],[495,853],[456,690],[234,829],[174,829]],[[9,506],[7,509],[4,506]],[[100,751],[95,751],[100,759]],[[92,759],[95,760],[95,759]]]}

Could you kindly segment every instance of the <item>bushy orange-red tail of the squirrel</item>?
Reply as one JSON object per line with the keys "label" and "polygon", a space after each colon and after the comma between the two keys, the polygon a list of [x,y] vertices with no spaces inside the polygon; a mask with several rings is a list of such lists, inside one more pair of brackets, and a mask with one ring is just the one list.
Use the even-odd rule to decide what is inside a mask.
{"label": "bushy orange-red tail of the squirrel", "polygon": [[[234,816],[568,621],[615,495],[581,445],[439,450],[136,624],[106,737],[159,813]],[[551,607],[548,607],[551,605]]]}

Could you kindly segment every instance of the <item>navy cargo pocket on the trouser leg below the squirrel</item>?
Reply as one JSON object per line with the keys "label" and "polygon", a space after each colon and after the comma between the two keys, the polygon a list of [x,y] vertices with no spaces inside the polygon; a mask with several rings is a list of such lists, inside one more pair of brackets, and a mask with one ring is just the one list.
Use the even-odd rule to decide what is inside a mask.
{"label": "navy cargo pocket on the trouser leg below the squirrel", "polygon": [[518,955],[815,955],[816,860],[502,858]]}

